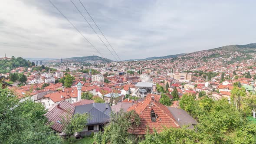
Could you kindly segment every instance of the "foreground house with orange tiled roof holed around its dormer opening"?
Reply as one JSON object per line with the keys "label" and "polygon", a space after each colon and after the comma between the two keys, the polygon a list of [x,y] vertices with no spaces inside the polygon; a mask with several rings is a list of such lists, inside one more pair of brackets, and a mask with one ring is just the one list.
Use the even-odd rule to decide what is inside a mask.
{"label": "foreground house with orange tiled roof holed around its dormer opening", "polygon": [[146,134],[153,132],[154,129],[161,132],[165,128],[180,128],[183,125],[189,125],[188,128],[194,128],[197,124],[186,111],[179,108],[166,107],[156,101],[154,97],[146,97],[144,101],[128,108],[127,111],[136,111],[141,118],[141,124],[129,130],[132,134]]}

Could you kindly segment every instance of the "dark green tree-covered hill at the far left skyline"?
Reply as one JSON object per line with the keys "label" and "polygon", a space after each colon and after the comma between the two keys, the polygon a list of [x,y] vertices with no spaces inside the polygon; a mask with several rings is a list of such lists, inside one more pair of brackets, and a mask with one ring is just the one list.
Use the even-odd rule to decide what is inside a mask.
{"label": "dark green tree-covered hill at the far left skyline", "polygon": [[30,67],[30,66],[32,66],[32,63],[21,57],[18,57],[18,58],[11,57],[10,60],[2,59],[0,60],[0,73],[10,72],[12,69],[15,69],[17,67]]}

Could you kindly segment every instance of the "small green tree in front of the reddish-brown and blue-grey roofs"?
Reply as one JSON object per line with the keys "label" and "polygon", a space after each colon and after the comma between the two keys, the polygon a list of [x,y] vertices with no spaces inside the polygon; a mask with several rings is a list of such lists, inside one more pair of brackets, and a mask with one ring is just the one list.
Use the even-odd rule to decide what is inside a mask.
{"label": "small green tree in front of the reddish-brown and blue-grey roofs", "polygon": [[[66,128],[65,128],[65,133],[70,137],[75,132],[82,131],[85,128],[85,125],[87,124],[87,119],[90,117],[88,113],[84,114],[75,114],[73,117],[70,119],[69,123],[67,123]],[[64,118],[63,118],[64,120]]]}

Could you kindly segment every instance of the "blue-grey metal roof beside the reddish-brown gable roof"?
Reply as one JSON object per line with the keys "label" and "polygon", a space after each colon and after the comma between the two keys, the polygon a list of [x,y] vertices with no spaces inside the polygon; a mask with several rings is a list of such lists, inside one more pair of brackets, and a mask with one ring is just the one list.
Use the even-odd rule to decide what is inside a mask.
{"label": "blue-grey metal roof beside the reddish-brown gable roof", "polygon": [[103,124],[110,119],[111,107],[107,104],[106,108],[105,103],[93,103],[75,107],[74,114],[84,114],[85,112],[88,112],[90,115],[86,125]]}

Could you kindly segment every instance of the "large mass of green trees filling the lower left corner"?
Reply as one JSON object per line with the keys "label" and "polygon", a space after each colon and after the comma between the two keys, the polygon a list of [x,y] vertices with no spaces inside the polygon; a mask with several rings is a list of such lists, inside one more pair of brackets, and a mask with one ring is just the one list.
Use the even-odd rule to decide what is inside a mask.
{"label": "large mass of green trees filling the lower left corner", "polygon": [[46,125],[46,110],[40,103],[19,99],[0,89],[1,144],[59,144],[61,139]]}

